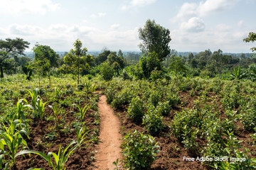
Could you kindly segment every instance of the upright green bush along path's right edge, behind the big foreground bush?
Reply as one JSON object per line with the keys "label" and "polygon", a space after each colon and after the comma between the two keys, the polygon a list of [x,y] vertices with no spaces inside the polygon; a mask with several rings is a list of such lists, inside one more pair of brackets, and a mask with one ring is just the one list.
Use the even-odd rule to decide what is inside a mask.
{"label": "upright green bush along path's right edge, behind the big foreground bush", "polygon": [[127,115],[134,123],[142,123],[144,107],[143,101],[139,98],[139,96],[132,98],[132,102],[129,104],[127,109]]}

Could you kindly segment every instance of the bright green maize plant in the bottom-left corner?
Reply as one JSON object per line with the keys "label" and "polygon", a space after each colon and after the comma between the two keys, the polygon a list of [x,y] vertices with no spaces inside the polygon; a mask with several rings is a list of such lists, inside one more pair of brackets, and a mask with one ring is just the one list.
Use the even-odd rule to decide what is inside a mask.
{"label": "bright green maize plant in the bottom-left corner", "polygon": [[[21,125],[21,120],[14,120],[9,123],[9,127],[1,125],[1,140],[0,140],[0,169],[8,169],[8,166],[16,166],[16,157],[18,149],[25,149],[28,147],[26,140],[23,139],[21,134],[28,137],[28,132],[24,129],[17,130],[17,127]],[[5,159],[10,157],[11,159]],[[3,167],[3,162],[5,167]]]}

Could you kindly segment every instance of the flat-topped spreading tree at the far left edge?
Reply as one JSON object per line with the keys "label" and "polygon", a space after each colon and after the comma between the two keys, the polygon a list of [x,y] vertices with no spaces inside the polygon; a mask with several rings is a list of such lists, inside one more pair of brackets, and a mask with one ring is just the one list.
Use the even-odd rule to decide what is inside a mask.
{"label": "flat-topped spreading tree at the far left edge", "polygon": [[4,69],[8,66],[8,62],[11,57],[24,55],[24,50],[28,48],[30,43],[24,41],[22,38],[6,38],[6,40],[0,40],[0,77],[4,78]]}

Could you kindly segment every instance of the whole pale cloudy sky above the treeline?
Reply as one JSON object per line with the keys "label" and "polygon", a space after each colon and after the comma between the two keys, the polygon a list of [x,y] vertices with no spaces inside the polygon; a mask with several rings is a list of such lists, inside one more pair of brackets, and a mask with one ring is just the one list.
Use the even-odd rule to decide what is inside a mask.
{"label": "whole pale cloudy sky above the treeline", "polygon": [[23,38],[58,52],[78,38],[88,51],[139,51],[151,19],[170,30],[178,52],[251,52],[256,0],[0,0],[0,39]]}

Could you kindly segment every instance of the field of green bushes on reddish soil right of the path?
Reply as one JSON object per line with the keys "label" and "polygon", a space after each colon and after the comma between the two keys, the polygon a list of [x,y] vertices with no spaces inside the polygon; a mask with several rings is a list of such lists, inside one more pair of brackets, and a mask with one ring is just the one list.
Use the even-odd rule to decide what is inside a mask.
{"label": "field of green bushes on reddish soil right of the path", "polygon": [[[100,86],[117,110],[123,134],[137,130],[155,137],[159,152],[152,169],[255,169],[252,81],[113,79]],[[124,162],[139,152],[127,152],[131,146],[123,146]],[[143,142],[140,146],[146,149]],[[213,160],[189,161],[197,158]]]}

